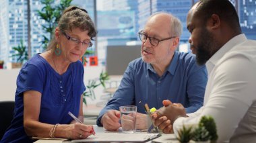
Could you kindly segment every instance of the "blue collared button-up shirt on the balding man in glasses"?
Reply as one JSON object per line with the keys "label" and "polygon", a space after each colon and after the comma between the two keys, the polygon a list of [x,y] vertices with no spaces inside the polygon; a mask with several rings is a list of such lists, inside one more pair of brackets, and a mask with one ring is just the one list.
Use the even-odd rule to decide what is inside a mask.
{"label": "blue collared button-up shirt on the balding man in glasses", "polygon": [[162,77],[141,58],[129,63],[119,89],[100,112],[97,124],[108,109],[119,110],[121,105],[137,105],[137,111],[145,113],[143,105],[162,107],[162,101],[182,103],[187,113],[197,111],[203,105],[203,95],[207,83],[205,65],[195,63],[195,55],[175,52],[170,65]]}

